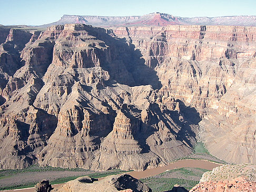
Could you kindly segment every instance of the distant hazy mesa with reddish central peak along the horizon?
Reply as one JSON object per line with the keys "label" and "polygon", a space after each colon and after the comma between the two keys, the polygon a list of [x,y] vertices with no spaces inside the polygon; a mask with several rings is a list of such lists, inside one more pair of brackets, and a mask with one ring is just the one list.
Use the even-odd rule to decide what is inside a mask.
{"label": "distant hazy mesa with reddish central peak along the horizon", "polygon": [[57,22],[40,27],[63,24],[86,24],[93,26],[166,26],[166,25],[226,25],[256,26],[256,16],[179,17],[166,13],[150,13],[142,16],[83,16],[63,15]]}

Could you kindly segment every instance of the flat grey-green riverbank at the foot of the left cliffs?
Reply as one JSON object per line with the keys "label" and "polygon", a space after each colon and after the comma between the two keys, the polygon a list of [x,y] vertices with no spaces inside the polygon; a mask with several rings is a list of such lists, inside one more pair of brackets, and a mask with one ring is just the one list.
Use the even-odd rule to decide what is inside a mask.
{"label": "flat grey-green riverbank at the foot of the left cliffs", "polygon": [[93,178],[105,177],[125,173],[120,169],[108,171],[91,171],[81,168],[67,169],[55,167],[39,167],[37,165],[17,170],[0,171],[0,190],[21,189],[34,187],[41,180],[48,179],[51,184],[62,184],[69,180],[76,179],[84,175]]}

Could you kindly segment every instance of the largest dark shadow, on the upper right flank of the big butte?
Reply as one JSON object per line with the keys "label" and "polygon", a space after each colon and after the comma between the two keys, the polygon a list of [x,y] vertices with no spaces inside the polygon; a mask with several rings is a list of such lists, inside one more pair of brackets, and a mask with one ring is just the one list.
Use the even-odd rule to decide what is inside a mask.
{"label": "largest dark shadow, on the upper right flank of the big butte", "polygon": [[114,37],[111,31],[106,33],[103,28],[93,27],[86,31],[109,46],[111,59],[105,59],[101,67],[109,72],[110,80],[129,86],[152,85],[154,89],[162,87],[154,69],[145,65],[140,50],[135,49],[133,44],[128,45],[124,38]]}

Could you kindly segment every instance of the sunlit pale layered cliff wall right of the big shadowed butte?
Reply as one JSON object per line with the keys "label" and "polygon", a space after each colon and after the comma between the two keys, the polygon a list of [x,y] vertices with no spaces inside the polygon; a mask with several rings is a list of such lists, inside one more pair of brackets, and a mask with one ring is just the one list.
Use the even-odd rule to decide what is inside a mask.
{"label": "sunlit pale layered cliff wall right of the big shadowed butte", "polygon": [[201,139],[216,157],[255,163],[255,27],[121,27],[141,50],[164,97],[195,107]]}

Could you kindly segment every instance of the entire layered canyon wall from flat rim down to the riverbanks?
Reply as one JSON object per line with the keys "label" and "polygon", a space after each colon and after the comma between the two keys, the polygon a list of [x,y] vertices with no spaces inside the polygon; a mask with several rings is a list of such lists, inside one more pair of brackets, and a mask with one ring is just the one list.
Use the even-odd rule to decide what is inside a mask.
{"label": "entire layered canyon wall from flat rim down to the riverbanks", "polygon": [[0,27],[0,168],[256,163],[256,27]]}

